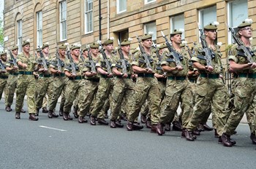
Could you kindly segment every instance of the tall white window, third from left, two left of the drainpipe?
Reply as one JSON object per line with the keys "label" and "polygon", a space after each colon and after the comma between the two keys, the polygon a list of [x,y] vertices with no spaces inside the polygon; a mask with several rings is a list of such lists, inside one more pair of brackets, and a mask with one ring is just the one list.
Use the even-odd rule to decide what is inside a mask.
{"label": "tall white window, third from left, two left of the drainpipe", "polygon": [[60,2],[60,39],[67,39],[67,1]]}

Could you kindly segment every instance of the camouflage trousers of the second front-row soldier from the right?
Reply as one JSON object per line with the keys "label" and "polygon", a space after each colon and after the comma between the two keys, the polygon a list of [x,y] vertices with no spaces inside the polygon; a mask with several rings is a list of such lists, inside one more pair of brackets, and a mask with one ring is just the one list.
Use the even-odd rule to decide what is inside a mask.
{"label": "camouflage trousers of the second front-row soldier from the right", "polygon": [[195,88],[195,106],[192,117],[189,121],[187,129],[195,130],[197,125],[202,122],[202,118],[211,105],[211,113],[215,116],[217,133],[221,135],[227,117],[230,115],[228,111],[229,95],[227,88],[223,84],[222,79],[199,78]]}

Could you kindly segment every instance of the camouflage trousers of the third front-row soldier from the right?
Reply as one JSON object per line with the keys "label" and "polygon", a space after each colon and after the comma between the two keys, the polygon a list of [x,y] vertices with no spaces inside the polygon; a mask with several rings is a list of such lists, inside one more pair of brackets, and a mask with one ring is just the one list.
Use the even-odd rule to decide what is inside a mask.
{"label": "camouflage trousers of the third front-row soldier from the right", "polygon": [[183,112],[181,121],[182,126],[186,128],[193,110],[192,95],[192,87],[187,79],[168,79],[165,90],[165,99],[161,104],[161,116],[159,117],[159,122],[166,123],[173,121],[178,105],[181,102],[181,109]]}

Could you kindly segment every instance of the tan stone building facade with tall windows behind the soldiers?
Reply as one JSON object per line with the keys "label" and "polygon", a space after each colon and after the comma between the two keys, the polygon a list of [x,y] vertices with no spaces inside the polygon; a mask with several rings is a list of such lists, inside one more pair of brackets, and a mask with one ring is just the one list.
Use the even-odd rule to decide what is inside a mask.
{"label": "tan stone building facade with tall windows behind the soldiers", "polygon": [[[256,21],[255,0],[5,0],[4,46],[20,44],[30,39],[31,49],[49,42],[50,52],[56,44],[90,44],[113,36],[133,38],[132,48],[138,47],[136,36],[152,33],[154,42],[164,42],[178,28],[191,47],[199,41],[198,24],[219,22],[218,41],[225,47],[231,36],[225,23],[236,27],[246,18]],[[256,23],[252,24],[255,28]],[[253,39],[253,44],[255,43]],[[117,45],[117,40],[115,40]]]}

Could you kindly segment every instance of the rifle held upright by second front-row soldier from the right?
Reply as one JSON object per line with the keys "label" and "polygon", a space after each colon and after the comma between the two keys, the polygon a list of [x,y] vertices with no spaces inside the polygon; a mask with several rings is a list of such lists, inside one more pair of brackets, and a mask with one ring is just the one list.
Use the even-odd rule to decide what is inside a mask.
{"label": "rifle held upright by second front-row soldier from the right", "polygon": [[203,54],[204,54],[204,58],[206,59],[206,65],[207,66],[212,66],[211,64],[211,59],[214,58],[214,54],[211,52],[210,48],[208,48],[206,39],[203,36],[203,29],[200,28],[199,23],[197,23],[198,25],[198,29],[200,31],[200,41],[203,47]]}

